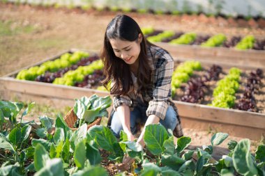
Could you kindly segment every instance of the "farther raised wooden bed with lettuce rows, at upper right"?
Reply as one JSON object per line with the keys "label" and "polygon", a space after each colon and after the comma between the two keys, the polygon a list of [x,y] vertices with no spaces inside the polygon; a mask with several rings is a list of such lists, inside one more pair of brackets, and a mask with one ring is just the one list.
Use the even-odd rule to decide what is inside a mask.
{"label": "farther raised wooden bed with lettuce rows, at upper right", "polygon": [[[156,45],[167,49],[175,58],[194,58],[198,61],[215,61],[218,63],[228,62],[231,66],[244,67],[248,65],[252,67],[265,67],[264,38],[255,38],[250,46],[239,46],[239,48],[245,47],[245,49],[236,49],[236,45],[247,36],[224,35],[225,40],[221,39],[220,43],[216,42],[216,45],[213,47],[206,47],[202,46],[202,43],[206,43],[213,35],[191,33],[193,36],[190,36],[190,33],[184,33],[182,31],[170,32],[152,28],[147,28],[147,30],[143,31],[146,33],[146,37],[158,36],[158,38],[149,39]],[[161,33],[163,33],[162,37]],[[180,39],[182,35],[186,36],[176,41],[176,39]],[[172,43],[174,40],[175,42]],[[208,42],[206,45],[212,44],[212,42]]]}

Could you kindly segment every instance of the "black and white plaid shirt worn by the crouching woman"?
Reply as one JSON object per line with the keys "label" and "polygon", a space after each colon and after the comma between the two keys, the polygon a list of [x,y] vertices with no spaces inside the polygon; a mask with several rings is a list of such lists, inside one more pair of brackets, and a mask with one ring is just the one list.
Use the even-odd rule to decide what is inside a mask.
{"label": "black and white plaid shirt worn by the crouching woman", "polygon": [[[149,46],[147,47],[147,56],[149,66],[151,67],[151,84],[149,88],[141,91],[139,94],[144,104],[148,106],[146,115],[156,115],[158,118],[164,120],[168,106],[173,106],[174,110],[178,114],[178,110],[171,98],[171,80],[174,71],[174,60],[167,51],[160,47]],[[134,81],[134,87],[137,87]],[[114,110],[121,104],[126,104],[132,111],[137,106],[137,97],[135,91],[131,91],[127,95],[114,95]],[[182,134],[181,120],[177,115],[176,131],[179,136]]]}

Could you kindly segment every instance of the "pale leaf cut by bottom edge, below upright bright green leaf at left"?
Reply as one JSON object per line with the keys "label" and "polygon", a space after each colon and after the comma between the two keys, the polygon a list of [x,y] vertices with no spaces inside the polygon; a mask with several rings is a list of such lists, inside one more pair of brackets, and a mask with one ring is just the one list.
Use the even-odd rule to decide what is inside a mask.
{"label": "pale leaf cut by bottom edge, below upright bright green leaf at left", "polygon": [[34,176],[64,176],[61,159],[50,159]]}

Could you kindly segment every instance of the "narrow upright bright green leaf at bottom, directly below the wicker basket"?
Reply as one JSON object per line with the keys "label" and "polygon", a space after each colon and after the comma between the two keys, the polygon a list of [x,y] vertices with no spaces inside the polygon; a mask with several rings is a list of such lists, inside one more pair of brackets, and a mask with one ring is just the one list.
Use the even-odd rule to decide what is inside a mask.
{"label": "narrow upright bright green leaf at bottom, directly below the wicker basket", "polygon": [[74,152],[74,161],[77,168],[84,168],[84,162],[86,161],[86,144],[85,140],[77,143]]}

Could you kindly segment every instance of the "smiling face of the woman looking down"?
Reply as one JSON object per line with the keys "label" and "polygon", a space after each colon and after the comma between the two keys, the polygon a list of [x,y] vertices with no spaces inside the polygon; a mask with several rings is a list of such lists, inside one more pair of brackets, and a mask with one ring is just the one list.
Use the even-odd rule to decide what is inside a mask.
{"label": "smiling face of the woman looking down", "polygon": [[141,34],[139,34],[139,38],[134,42],[120,39],[110,39],[109,42],[112,45],[112,49],[114,51],[115,56],[121,58],[124,62],[130,65],[137,61],[137,58],[141,51]]}

